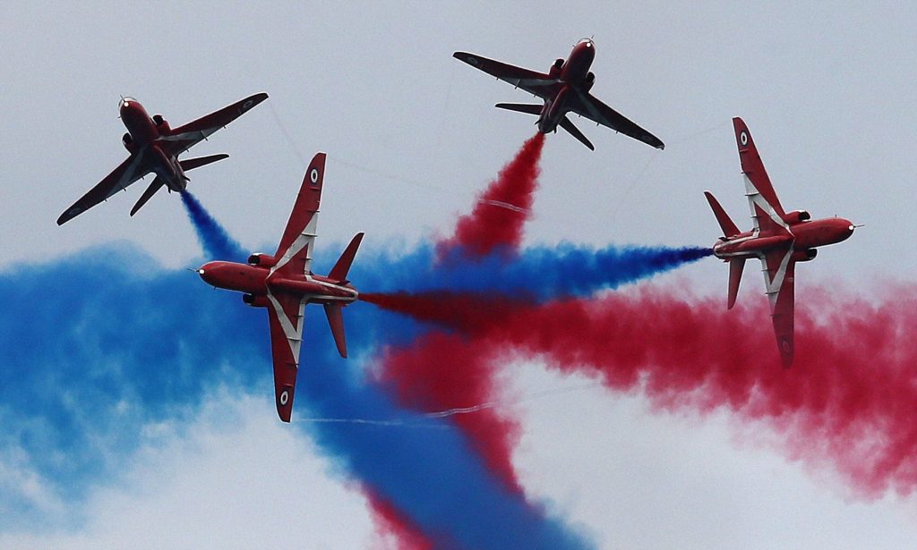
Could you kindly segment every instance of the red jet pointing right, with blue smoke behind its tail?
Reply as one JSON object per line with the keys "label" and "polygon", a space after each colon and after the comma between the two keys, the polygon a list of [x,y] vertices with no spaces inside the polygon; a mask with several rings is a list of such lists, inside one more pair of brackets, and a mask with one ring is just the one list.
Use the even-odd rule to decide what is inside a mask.
{"label": "red jet pointing right, with blue smoke behind its tail", "polygon": [[770,313],[777,334],[780,359],[784,367],[793,362],[793,279],[797,262],[808,262],[816,247],[844,241],[856,226],[843,218],[811,220],[805,210],[784,211],[770,185],[768,172],[757,154],[751,133],[741,118],[733,119],[735,142],[745,174],[746,197],[755,228],[739,232],[710,191],[704,191],[724,236],[713,245],[713,254],[729,263],[729,295],[726,307],[735,305],[748,258],[761,260],[764,285],[770,300]]}

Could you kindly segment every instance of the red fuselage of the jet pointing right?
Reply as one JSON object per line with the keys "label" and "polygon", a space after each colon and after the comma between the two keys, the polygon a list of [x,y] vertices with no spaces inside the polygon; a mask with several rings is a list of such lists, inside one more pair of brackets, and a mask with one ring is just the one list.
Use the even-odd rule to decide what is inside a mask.
{"label": "red fuselage of the jet pointing right", "polygon": [[[854,224],[844,218],[824,218],[822,220],[798,221],[788,223],[790,235],[760,236],[756,232],[742,232],[734,237],[717,241],[713,245],[713,255],[721,259],[735,256],[757,256],[774,248],[790,244],[799,251],[808,251],[819,246],[845,241],[854,232]],[[814,257],[814,254],[810,258]],[[803,258],[797,261],[804,261]]]}

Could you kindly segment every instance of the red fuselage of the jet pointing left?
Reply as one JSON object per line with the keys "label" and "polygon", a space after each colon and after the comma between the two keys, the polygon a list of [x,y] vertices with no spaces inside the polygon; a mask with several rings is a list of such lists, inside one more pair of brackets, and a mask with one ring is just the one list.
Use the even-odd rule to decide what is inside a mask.
{"label": "red fuselage of the jet pointing left", "polygon": [[282,277],[271,267],[236,262],[209,262],[197,270],[204,282],[226,290],[243,292],[246,303],[261,306],[268,295],[283,293],[307,299],[315,304],[346,305],[357,299],[357,289],[341,285],[322,275]]}

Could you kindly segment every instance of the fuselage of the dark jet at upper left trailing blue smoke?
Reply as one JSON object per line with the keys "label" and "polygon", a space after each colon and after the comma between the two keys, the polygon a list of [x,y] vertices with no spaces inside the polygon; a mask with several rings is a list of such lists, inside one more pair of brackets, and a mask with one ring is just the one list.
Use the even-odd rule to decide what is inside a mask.
{"label": "fuselage of the dark jet at upper left trailing blue smoke", "polygon": [[[163,137],[160,126],[153,121],[137,100],[126,97],[121,100],[119,108],[121,120],[130,134],[130,142],[125,142],[128,151],[145,151],[149,153],[152,171],[166,182],[166,186],[182,192],[188,187],[188,178],[182,170],[178,158],[170,155],[160,146]],[[163,121],[163,130],[168,131],[168,124]]]}

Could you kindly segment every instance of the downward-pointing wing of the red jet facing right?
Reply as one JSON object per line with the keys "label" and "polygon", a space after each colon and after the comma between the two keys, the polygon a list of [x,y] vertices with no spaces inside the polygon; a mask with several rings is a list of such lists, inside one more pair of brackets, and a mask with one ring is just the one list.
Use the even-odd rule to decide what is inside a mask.
{"label": "downward-pointing wing of the red jet facing right", "polygon": [[770,301],[770,316],[777,336],[780,361],[790,368],[793,364],[793,309],[795,302],[796,262],[792,260],[793,247],[772,250],[761,256],[764,284]]}

